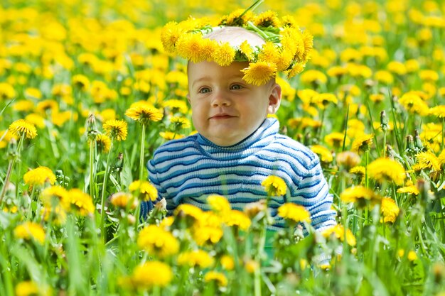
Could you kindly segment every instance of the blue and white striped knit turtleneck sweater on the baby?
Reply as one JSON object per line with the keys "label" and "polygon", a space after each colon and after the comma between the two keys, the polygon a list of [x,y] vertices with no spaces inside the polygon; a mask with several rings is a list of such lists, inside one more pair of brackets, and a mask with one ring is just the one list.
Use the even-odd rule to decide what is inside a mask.
{"label": "blue and white striped knit turtleneck sweater on the baby", "polygon": [[[278,133],[277,119],[265,119],[257,131],[234,146],[222,147],[195,134],[168,141],[158,148],[147,164],[149,180],[165,197],[168,212],[178,204],[209,209],[206,197],[225,196],[232,209],[265,199],[262,181],[269,175],[281,177],[289,194],[272,197],[269,209],[275,219],[271,229],[284,226],[277,209],[285,202],[301,204],[311,213],[315,229],[336,224],[331,209],[332,195],[316,154],[299,142]],[[151,204],[141,206],[145,216]]]}

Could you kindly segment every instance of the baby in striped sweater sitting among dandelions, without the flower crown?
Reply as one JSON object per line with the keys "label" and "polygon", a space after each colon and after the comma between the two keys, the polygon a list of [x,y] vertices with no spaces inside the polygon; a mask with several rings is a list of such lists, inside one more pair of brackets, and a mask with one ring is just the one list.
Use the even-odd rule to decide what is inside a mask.
{"label": "baby in striped sweater sitting among dandelions, without the flower crown", "polygon": [[[240,48],[264,48],[261,36],[242,27],[225,26],[203,35],[203,40],[229,43]],[[206,41],[208,42],[208,41]],[[225,196],[232,209],[267,198],[262,181],[281,177],[287,194],[271,197],[269,210],[275,219],[271,230],[284,227],[277,209],[286,202],[300,204],[310,212],[311,224],[323,230],[336,224],[332,195],[320,162],[309,148],[279,134],[282,91],[274,76],[265,83],[245,80],[250,62],[234,60],[219,65],[207,58],[188,61],[188,102],[191,104],[192,136],[168,141],[148,163],[149,180],[166,199],[167,209],[193,204],[209,209],[210,194]],[[151,208],[141,207],[143,215]]]}

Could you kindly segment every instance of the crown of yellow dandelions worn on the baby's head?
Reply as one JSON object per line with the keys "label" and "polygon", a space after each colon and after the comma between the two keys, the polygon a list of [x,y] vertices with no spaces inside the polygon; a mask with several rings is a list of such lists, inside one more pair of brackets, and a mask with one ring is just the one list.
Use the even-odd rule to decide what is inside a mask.
{"label": "crown of yellow dandelions worn on the baby's head", "polygon": [[[255,15],[252,9],[261,1],[217,21],[209,18],[188,18],[180,23],[171,21],[161,31],[163,47],[168,53],[191,62],[213,61],[220,66],[249,62],[249,66],[241,71],[243,80],[254,85],[267,83],[277,72],[284,72],[288,78],[294,77],[304,70],[309,60],[313,36],[308,31],[301,31],[291,16],[280,19],[274,11]],[[246,40],[224,42],[212,39],[211,35],[219,30],[240,35],[237,41],[246,35]],[[252,37],[247,38],[252,33],[264,41],[258,43]]]}

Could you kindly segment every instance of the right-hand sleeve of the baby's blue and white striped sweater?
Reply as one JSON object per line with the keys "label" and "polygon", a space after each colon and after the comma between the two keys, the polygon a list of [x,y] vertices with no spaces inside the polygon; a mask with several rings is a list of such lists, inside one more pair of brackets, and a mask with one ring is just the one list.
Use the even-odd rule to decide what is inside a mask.
{"label": "right-hand sleeve of the baby's blue and white striped sweater", "polygon": [[309,163],[308,170],[299,182],[296,199],[304,201],[304,206],[311,214],[311,224],[317,231],[336,225],[336,211],[331,209],[333,195],[329,193],[328,182],[317,156]]}

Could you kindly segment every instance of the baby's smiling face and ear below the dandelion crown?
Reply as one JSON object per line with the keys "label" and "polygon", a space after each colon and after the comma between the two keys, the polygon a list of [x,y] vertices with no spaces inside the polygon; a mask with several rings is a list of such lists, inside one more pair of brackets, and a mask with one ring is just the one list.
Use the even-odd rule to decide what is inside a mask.
{"label": "baby's smiling face and ear below the dandelion crown", "polygon": [[281,100],[278,84],[260,87],[242,80],[247,62],[221,67],[215,62],[190,62],[188,101],[196,130],[218,146],[232,146],[250,136],[274,114]]}

